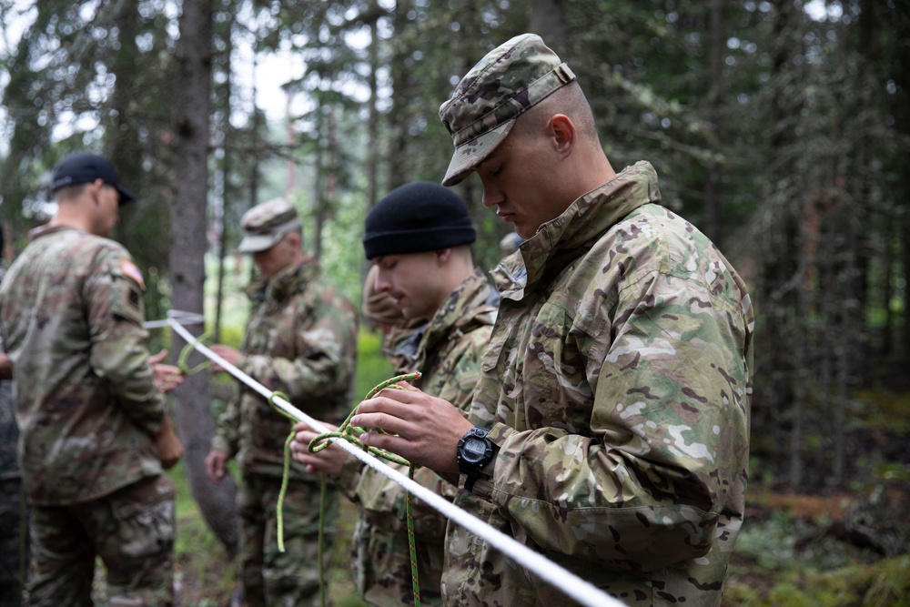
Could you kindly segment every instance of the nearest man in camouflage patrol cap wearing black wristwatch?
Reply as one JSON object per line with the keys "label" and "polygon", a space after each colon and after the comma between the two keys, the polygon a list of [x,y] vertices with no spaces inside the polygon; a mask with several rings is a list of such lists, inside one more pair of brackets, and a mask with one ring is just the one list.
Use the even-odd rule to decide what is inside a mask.
{"label": "nearest man in camouflage patrol cap wearing black wristwatch", "polygon": [[[629,605],[720,605],[743,523],[753,310],[743,280],[662,207],[647,162],[616,173],[575,75],[525,34],[470,69],[440,118],[446,185],[527,240],[494,271],[501,304],[468,420],[386,390],[364,442],[440,473],[455,503]],[[405,404],[407,406],[402,406]],[[450,521],[448,604],[574,604]]]}

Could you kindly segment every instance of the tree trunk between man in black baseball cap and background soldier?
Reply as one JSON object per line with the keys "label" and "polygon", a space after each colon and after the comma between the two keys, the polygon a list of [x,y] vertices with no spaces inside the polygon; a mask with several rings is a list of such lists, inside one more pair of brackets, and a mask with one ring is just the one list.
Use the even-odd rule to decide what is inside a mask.
{"label": "tree trunk between man in black baseball cap and background soldier", "polygon": [[[180,16],[176,126],[176,187],[171,207],[170,254],[172,309],[201,314],[205,283],[206,199],[208,185],[208,115],[211,94],[212,9],[207,0],[186,0]],[[188,327],[194,335],[203,327]],[[176,335],[172,356],[184,347]],[[195,361],[194,361],[195,359]],[[190,357],[196,364],[201,357]],[[184,444],[190,491],[208,525],[227,550],[237,550],[236,487],[228,476],[214,484],[205,460],[215,423],[209,407],[208,373],[187,377],[174,392],[177,429]]]}

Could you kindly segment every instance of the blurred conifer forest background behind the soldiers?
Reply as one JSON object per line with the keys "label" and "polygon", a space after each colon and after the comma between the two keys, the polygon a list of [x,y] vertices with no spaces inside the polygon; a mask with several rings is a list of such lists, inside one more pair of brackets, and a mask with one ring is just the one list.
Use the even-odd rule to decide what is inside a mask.
{"label": "blurred conifer forest background behind the soldiers", "polygon": [[[910,2],[0,0],[0,16],[7,262],[53,212],[56,161],[94,150],[141,198],[116,239],[145,273],[148,318],[205,312],[195,334],[228,342],[248,309],[244,211],[293,200],[305,247],[359,302],[369,208],[440,180],[440,104],[492,47],[540,34],[578,75],[613,167],[650,161],[663,204],[753,296],[750,518],[728,602],[910,604]],[[263,99],[275,56],[302,67],[269,71]],[[492,268],[509,228],[476,178],[456,189]],[[361,391],[388,370],[366,329]],[[179,473],[197,531],[230,555],[236,488],[202,471],[209,403],[227,398],[210,379],[175,395]],[[217,558],[187,577],[210,594],[184,604],[222,601]]]}

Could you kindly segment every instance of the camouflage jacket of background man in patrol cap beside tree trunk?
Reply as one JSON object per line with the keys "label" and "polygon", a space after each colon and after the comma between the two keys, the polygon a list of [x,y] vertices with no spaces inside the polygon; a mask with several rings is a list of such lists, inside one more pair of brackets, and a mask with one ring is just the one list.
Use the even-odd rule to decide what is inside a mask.
{"label": "camouflage jacket of background man in patrol cap beside tree trunk", "polygon": [[[247,289],[253,309],[237,367],[270,390],[284,393],[316,420],[340,423],[350,408],[357,365],[353,304],[320,276],[308,257]],[[244,474],[281,476],[292,422],[246,386],[217,422],[212,449],[236,456]],[[292,477],[318,481],[297,462]]]}

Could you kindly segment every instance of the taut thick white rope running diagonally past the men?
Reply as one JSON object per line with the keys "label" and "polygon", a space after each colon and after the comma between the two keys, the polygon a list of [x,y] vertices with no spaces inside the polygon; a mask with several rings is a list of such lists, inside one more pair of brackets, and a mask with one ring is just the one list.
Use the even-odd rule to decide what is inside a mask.
{"label": "taut thick white rope running diagonally past the men", "polygon": [[[245,383],[250,389],[257,391],[260,395],[262,395],[263,398],[275,403],[281,410],[287,412],[288,415],[293,417],[295,420],[306,422],[310,428],[316,430],[319,433],[329,431],[329,429],[319,423],[319,421],[313,420],[306,413],[298,410],[287,400],[282,399],[277,394],[260,384],[258,381],[252,379],[246,373],[227,362],[227,360],[218,356],[211,349],[208,349],[204,344],[199,343],[199,341],[194,338],[193,335],[187,331],[187,329],[184,329],[175,318],[168,318],[167,323],[171,326],[171,328],[177,331],[180,337],[182,337],[188,344],[193,344],[193,347],[205,355],[208,359],[216,362],[222,369],[225,369],[235,378]],[[442,514],[449,517],[452,521],[455,521],[472,533],[479,535],[484,540],[489,541],[490,545],[492,545],[494,548],[510,557],[513,561],[516,561],[524,567],[530,569],[532,572],[535,572],[544,581],[550,582],[554,588],[558,588],[561,592],[564,592],[575,601],[580,602],[582,605],[588,605],[589,607],[625,607],[625,603],[612,598],[612,596],[605,592],[602,592],[600,589],[591,584],[591,582],[582,580],[574,573],[563,569],[561,566],[550,561],[540,553],[532,551],[530,548],[524,544],[519,543],[518,541],[515,541],[505,533],[502,533],[501,531],[490,527],[490,525],[484,521],[480,521],[480,519],[473,516],[472,514],[469,514],[467,511],[461,510],[455,504],[451,503],[450,501],[446,501],[440,495],[437,495],[419,483],[412,481],[404,474],[401,474],[398,470],[394,470],[393,468],[383,463],[381,460],[372,457],[364,450],[361,450],[357,446],[350,444],[347,440],[329,440],[332,440],[332,442],[334,442],[336,445],[348,451],[351,455],[367,464],[373,470],[377,470],[380,474],[388,477],[392,481],[397,482],[406,490],[419,497],[420,500],[427,502],[430,504],[430,506],[442,512]]]}

